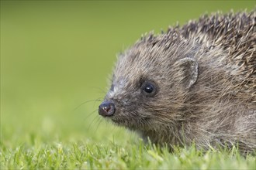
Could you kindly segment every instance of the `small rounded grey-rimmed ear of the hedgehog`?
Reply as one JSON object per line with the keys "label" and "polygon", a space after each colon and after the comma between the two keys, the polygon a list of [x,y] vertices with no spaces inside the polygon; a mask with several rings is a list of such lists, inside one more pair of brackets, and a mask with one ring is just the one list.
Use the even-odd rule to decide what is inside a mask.
{"label": "small rounded grey-rimmed ear of the hedgehog", "polygon": [[178,60],[178,66],[182,69],[182,83],[189,89],[198,78],[198,63],[195,59],[186,57]]}

